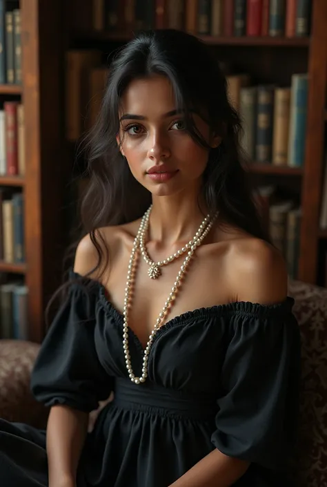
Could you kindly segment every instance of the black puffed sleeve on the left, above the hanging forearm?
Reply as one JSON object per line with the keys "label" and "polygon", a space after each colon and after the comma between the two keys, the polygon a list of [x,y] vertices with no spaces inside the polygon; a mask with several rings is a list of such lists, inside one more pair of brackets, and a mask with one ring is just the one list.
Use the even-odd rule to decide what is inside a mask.
{"label": "black puffed sleeve on the left, above the hanging forearm", "polygon": [[112,377],[97,355],[96,290],[73,283],[41,344],[31,390],[45,405],[64,404],[90,412],[112,390]]}

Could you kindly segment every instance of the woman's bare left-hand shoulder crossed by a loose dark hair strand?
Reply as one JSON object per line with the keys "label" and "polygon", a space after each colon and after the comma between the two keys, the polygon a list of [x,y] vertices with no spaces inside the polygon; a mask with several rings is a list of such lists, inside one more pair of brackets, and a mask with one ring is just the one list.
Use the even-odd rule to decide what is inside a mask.
{"label": "woman's bare left-hand shoulder crossed by a loose dark hair strand", "polygon": [[92,235],[88,233],[77,245],[74,271],[81,276],[98,279],[103,273],[100,260],[106,262],[110,258],[115,261],[124,246],[132,245],[138,225],[137,220],[126,225],[101,227]]}

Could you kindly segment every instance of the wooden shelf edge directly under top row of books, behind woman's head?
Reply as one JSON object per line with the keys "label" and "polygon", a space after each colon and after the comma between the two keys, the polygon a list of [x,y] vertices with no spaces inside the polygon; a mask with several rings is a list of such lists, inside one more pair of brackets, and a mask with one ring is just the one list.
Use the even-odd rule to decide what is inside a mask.
{"label": "wooden shelf edge directly under top row of books, behind woman's head", "polygon": [[[76,39],[98,41],[128,41],[132,39],[130,32],[110,32],[106,30],[76,30]],[[280,46],[280,47],[308,47],[310,37],[255,37],[255,36],[212,36],[197,35],[199,39],[212,46]]]}

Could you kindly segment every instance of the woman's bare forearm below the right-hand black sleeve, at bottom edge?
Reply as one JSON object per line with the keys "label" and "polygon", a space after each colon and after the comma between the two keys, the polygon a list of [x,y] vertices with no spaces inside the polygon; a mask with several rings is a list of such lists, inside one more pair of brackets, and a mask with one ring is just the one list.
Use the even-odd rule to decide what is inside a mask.
{"label": "woman's bare forearm below the right-hand black sleeve, at bottom edge", "polygon": [[230,487],[248,466],[244,460],[213,450],[169,487]]}

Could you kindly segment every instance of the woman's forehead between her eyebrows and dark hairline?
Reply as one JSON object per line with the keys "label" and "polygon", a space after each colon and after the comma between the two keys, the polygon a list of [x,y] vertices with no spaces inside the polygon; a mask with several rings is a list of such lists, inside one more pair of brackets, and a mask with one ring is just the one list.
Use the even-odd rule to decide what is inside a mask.
{"label": "woman's forehead between her eyebrows and dark hairline", "polygon": [[175,108],[172,84],[164,76],[134,79],[121,97],[121,112],[150,116]]}

